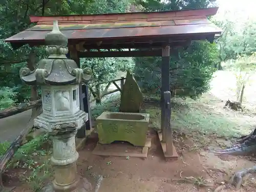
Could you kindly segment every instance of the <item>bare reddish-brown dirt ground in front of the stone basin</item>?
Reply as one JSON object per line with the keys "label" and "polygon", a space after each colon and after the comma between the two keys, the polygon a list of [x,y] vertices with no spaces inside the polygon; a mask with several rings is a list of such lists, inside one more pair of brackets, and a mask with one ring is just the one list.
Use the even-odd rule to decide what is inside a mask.
{"label": "bare reddish-brown dirt ground in front of the stone basin", "polygon": [[[176,135],[178,136],[178,135]],[[151,187],[150,191],[214,191],[219,185],[226,184],[233,172],[253,166],[253,162],[238,157],[218,157],[208,151],[191,151],[189,146],[195,143],[183,136],[182,141],[176,142],[180,156],[178,161],[166,162],[161,145],[154,130],[151,130],[152,146],[146,160],[125,157],[100,157],[91,152],[97,143],[97,137],[90,138],[86,146],[79,152],[78,170],[86,177],[102,175],[103,178],[120,181],[126,186],[125,191],[131,190],[131,180],[142,182]],[[125,150],[125,148],[124,148]],[[109,164],[111,162],[111,164]],[[88,168],[90,167],[90,168]],[[193,177],[191,179],[186,179]],[[253,183],[237,191],[256,191]],[[105,188],[105,187],[102,187]],[[119,191],[113,186],[109,191]],[[152,190],[154,188],[154,190]],[[147,191],[147,190],[141,190]],[[221,191],[236,191],[227,185]]]}

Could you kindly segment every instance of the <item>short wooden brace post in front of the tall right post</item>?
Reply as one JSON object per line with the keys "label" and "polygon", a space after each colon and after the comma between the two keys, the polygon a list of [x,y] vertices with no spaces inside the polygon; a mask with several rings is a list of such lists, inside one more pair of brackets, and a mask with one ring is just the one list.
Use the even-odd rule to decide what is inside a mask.
{"label": "short wooden brace post in front of the tall right post", "polygon": [[173,156],[173,130],[170,124],[172,110],[170,103],[170,92],[164,92],[164,103],[165,103],[165,115],[164,115],[164,128],[165,128],[165,139],[166,139],[166,155]]}

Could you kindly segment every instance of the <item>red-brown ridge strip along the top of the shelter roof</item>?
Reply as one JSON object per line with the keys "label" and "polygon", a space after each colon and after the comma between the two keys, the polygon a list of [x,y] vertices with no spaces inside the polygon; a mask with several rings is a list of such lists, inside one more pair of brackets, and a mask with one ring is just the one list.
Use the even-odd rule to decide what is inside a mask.
{"label": "red-brown ridge strip along the top of the shelter roof", "polygon": [[111,14],[91,14],[91,15],[52,15],[36,16],[29,15],[31,23],[51,22],[53,20],[111,20],[111,19],[140,19],[156,17],[180,17],[180,16],[210,16],[215,15],[219,7],[204,9],[186,9],[177,11],[160,11],[160,12],[132,12],[132,13],[111,13]]}

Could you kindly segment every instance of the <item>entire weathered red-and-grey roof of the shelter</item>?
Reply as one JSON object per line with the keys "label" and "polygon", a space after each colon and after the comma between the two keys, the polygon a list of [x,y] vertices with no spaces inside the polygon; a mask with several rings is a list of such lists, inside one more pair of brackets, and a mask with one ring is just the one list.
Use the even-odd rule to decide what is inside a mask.
{"label": "entire weathered red-and-grey roof of the shelter", "polygon": [[45,35],[58,20],[60,31],[67,35],[70,45],[83,41],[86,49],[121,49],[176,45],[187,40],[213,40],[221,29],[209,22],[218,8],[117,13],[101,15],[30,16],[36,23],[5,41],[13,47],[25,44],[45,44]]}

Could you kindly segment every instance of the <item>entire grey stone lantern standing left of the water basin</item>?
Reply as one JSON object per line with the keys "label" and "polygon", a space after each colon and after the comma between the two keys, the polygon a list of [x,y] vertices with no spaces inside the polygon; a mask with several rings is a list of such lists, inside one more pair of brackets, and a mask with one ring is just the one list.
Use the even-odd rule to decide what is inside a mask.
{"label": "entire grey stone lantern standing left of the water basin", "polygon": [[45,37],[49,57],[41,59],[34,71],[20,69],[20,78],[27,84],[41,86],[43,113],[35,118],[34,125],[49,131],[53,139],[51,161],[55,168],[55,179],[46,191],[88,191],[91,184],[78,177],[75,146],[77,130],[88,120],[88,114],[79,107],[79,83],[88,82],[92,70],[79,69],[74,60],[68,59],[68,38],[58,28]]}

